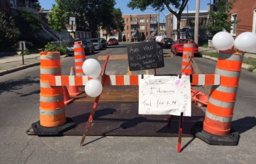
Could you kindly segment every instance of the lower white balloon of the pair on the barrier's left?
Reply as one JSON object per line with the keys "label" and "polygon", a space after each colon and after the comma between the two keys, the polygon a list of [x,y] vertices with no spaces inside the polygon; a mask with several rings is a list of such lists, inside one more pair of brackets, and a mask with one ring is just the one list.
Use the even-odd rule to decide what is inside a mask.
{"label": "lower white balloon of the pair on the barrier's left", "polygon": [[100,80],[91,79],[86,83],[85,90],[88,96],[95,98],[101,94],[102,84]]}

